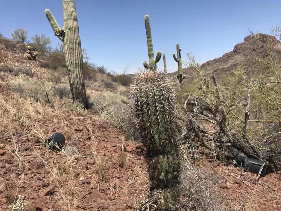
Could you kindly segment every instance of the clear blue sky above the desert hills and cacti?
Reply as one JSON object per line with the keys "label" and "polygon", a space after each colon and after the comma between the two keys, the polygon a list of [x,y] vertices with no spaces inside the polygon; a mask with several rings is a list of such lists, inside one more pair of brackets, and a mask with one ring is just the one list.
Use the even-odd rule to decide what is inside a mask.
{"label": "clear blue sky above the desert hills and cacti", "polygon": [[[254,32],[267,33],[281,22],[280,0],[76,0],[82,48],[89,60],[121,73],[132,63],[129,73],[148,62],[144,16],[149,15],[154,53],[166,55],[168,72],[177,70],[172,54],[180,43],[182,60],[195,54],[205,63],[232,51]],[[63,27],[62,0],[1,0],[0,32],[11,38],[12,29],[25,28],[29,38],[45,33],[52,46],[61,42],[53,34],[45,16],[50,9]],[[163,67],[163,57],[157,67]]]}

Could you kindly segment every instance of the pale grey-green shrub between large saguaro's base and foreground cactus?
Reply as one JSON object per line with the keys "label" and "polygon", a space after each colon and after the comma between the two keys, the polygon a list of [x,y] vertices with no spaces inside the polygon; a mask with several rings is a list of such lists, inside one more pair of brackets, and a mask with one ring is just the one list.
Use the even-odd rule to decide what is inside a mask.
{"label": "pale grey-green shrub between large saguaro's base and foreground cactus", "polygon": [[[130,107],[123,103],[122,96],[114,93],[98,93],[90,95],[93,110],[99,112],[102,118],[113,127],[126,132],[126,139],[139,139],[139,132],[134,124],[134,115]],[[126,99],[125,99],[126,100]]]}

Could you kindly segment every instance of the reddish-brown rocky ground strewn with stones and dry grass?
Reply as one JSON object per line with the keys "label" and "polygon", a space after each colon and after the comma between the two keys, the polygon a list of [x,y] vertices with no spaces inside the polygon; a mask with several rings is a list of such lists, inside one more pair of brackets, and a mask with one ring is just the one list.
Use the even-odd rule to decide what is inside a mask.
{"label": "reddish-brown rocky ground strewn with stones and dry grass", "polygon": [[[0,83],[0,96],[13,101],[6,83]],[[137,210],[149,186],[141,144],[124,140],[123,132],[91,110],[85,117],[55,110],[51,115],[60,121],[23,124],[13,136],[0,124],[0,208],[10,210],[21,194],[24,210]],[[44,148],[43,140],[55,132],[66,137],[62,152]],[[279,174],[257,180],[243,169],[202,159],[197,168],[214,173],[216,198],[225,210],[281,209]]]}

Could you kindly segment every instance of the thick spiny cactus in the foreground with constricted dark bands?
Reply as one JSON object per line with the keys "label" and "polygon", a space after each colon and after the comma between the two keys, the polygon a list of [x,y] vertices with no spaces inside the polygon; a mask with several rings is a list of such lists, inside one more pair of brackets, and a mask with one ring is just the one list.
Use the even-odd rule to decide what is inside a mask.
{"label": "thick spiny cactus in the foreground with constricted dark bands", "polygon": [[134,80],[131,93],[146,148],[150,202],[160,210],[175,210],[180,171],[180,148],[174,121],[175,92],[164,72],[146,70]]}

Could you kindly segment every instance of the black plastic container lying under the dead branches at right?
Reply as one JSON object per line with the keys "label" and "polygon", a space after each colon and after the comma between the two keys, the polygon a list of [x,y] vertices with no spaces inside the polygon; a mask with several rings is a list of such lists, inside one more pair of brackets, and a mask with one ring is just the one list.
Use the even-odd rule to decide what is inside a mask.
{"label": "black plastic container lying under the dead branches at right", "polygon": [[[255,158],[241,157],[235,160],[237,167],[242,167],[251,173],[259,173],[260,168],[264,164],[262,161]],[[260,175],[265,176],[266,166],[263,167]]]}

